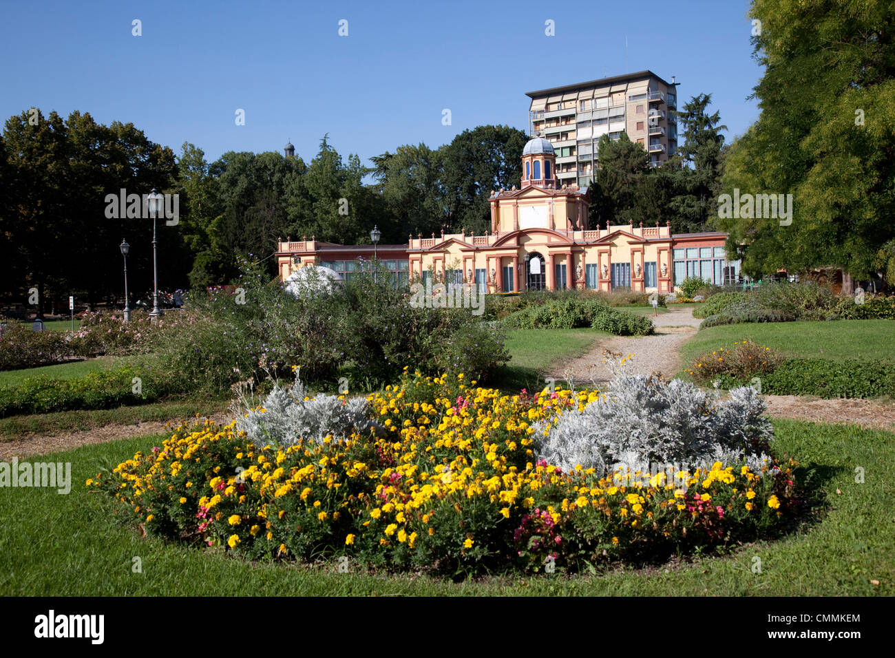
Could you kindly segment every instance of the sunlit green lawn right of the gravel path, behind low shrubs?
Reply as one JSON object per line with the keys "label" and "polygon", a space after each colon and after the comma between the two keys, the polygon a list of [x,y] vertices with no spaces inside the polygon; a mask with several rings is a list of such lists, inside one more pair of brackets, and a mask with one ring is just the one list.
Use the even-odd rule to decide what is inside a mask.
{"label": "sunlit green lawn right of the gravel path, behind low shrubs", "polygon": [[846,361],[895,361],[895,322],[892,320],[833,320],[829,322],[754,322],[700,329],[681,348],[684,363],[737,340],[780,349],[789,356]]}

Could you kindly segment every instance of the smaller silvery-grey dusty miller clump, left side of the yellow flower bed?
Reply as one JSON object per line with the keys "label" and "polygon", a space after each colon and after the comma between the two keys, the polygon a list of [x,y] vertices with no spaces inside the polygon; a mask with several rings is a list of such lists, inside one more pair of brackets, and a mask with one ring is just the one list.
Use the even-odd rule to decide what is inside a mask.
{"label": "smaller silvery-grey dusty miller clump, left side of the yellow flower bed", "polygon": [[[344,440],[351,432],[379,431],[379,423],[368,417],[369,403],[363,397],[343,400],[321,394],[311,399],[295,372],[294,384],[286,389],[277,380],[260,407],[252,406],[244,393],[236,402],[236,429],[245,432],[259,448],[293,446],[298,440],[321,443],[327,436]],[[264,411],[261,411],[261,408]]]}

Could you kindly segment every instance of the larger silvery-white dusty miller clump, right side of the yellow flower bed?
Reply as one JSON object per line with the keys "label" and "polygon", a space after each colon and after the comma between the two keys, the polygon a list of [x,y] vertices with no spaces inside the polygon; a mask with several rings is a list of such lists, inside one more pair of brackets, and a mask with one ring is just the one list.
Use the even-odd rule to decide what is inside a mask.
{"label": "larger silvery-white dusty miller clump, right side of the yellow flower bed", "polygon": [[[535,423],[540,457],[565,471],[576,465],[611,474],[677,463],[706,466],[745,460],[763,465],[771,423],[754,389],[730,391],[720,400],[683,380],[617,372],[609,392],[548,423]],[[544,433],[547,430],[546,434]]]}

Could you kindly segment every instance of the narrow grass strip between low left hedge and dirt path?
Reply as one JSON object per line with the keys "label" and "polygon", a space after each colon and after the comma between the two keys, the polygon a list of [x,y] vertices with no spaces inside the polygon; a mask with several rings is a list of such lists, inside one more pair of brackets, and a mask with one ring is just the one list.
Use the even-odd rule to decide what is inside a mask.
{"label": "narrow grass strip between low left hedge and dirt path", "polygon": [[97,430],[108,424],[132,424],[210,415],[225,411],[229,400],[177,400],[117,409],[60,411],[52,414],[16,415],[0,419],[0,443],[18,440],[29,434],[52,435]]}

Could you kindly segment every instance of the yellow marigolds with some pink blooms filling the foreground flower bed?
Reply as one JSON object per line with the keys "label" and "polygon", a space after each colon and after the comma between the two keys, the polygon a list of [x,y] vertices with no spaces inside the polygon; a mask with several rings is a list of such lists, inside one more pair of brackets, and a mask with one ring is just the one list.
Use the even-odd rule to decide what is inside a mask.
{"label": "yellow marigolds with some pink blooms filling the foreground flower bed", "polygon": [[447,574],[654,559],[772,534],[794,508],[794,463],[770,457],[678,483],[539,459],[533,423],[604,404],[595,391],[509,397],[416,374],[367,402],[379,432],[261,447],[236,421],[180,426],[87,485],[151,533],[249,559]]}

